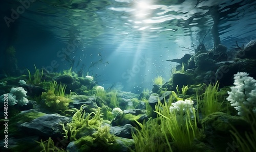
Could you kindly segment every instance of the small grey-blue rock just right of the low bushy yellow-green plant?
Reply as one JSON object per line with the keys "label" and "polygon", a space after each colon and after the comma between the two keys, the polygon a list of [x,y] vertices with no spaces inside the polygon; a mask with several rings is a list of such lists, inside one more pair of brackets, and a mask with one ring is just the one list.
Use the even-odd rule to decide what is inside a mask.
{"label": "small grey-blue rock just right of the low bushy yellow-green plant", "polygon": [[110,133],[117,137],[130,138],[132,139],[132,128],[131,124],[125,124],[124,126],[112,126]]}

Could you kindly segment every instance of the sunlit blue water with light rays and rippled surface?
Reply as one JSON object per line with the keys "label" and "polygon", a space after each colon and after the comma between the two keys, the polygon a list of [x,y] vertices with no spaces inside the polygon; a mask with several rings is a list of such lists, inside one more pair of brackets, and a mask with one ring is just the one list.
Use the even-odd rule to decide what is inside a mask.
{"label": "sunlit blue water with light rays and rippled surface", "polygon": [[202,41],[211,49],[213,16],[228,48],[256,38],[256,1],[20,2],[0,6],[1,53],[14,46],[19,69],[59,72],[71,67],[66,56],[72,70],[84,65],[84,74],[100,75],[99,85],[135,93],[151,89],[158,75],[170,78],[175,63],[165,60],[193,53],[186,48]]}

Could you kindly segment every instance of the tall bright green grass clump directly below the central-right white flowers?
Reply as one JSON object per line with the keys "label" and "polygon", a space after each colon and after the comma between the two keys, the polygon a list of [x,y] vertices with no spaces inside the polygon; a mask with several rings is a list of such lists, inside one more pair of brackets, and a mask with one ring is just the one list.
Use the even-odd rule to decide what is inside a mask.
{"label": "tall bright green grass clump directly below the central-right white flowers", "polygon": [[[186,151],[192,148],[193,140],[199,134],[196,121],[196,111],[194,108],[187,108],[185,111],[180,111],[179,115],[176,111],[170,110],[172,97],[168,103],[160,101],[156,105],[156,113],[159,116],[162,131],[172,137],[175,146],[179,151]],[[166,141],[167,139],[167,135]],[[167,142],[169,144],[169,142]],[[170,147],[170,145],[168,145]]]}

